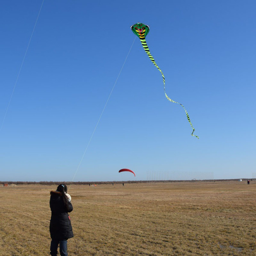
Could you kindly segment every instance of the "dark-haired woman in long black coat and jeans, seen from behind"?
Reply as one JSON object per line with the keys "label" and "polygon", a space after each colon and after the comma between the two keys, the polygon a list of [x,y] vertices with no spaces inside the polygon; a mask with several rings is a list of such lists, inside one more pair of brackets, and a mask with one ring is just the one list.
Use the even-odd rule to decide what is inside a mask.
{"label": "dark-haired woman in long black coat and jeans, seen from behind", "polygon": [[73,211],[71,196],[67,194],[67,186],[60,184],[56,191],[51,191],[50,208],[52,211],[50,221],[50,234],[52,238],[50,254],[57,256],[60,244],[60,255],[68,256],[68,238],[73,237],[73,230],[68,212]]}

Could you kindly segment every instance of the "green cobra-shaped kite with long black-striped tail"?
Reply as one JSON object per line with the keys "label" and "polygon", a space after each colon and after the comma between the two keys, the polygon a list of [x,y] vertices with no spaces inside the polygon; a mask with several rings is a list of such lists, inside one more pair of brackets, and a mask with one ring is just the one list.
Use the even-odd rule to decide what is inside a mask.
{"label": "green cobra-shaped kite with long black-striped tail", "polygon": [[[140,38],[140,42],[145,50],[145,52],[148,54],[148,57],[149,59],[153,62],[153,64],[156,66],[156,68],[161,72],[162,76],[163,76],[163,81],[164,81],[164,74],[162,72],[162,70],[156,65],[156,61],[154,60],[154,58],[152,57],[152,55],[150,54],[149,52],[149,48],[148,48],[148,45],[146,43],[146,39],[145,37],[148,35],[148,32],[149,32],[149,26],[148,25],[145,25],[143,23],[136,23],[134,25],[131,26],[131,29],[132,29],[132,32],[138,36]],[[167,100],[171,101],[171,102],[174,102],[174,103],[178,103],[180,104],[179,102],[176,102],[174,100],[172,100],[171,98],[168,97],[168,95],[166,94],[165,92],[165,81],[164,81],[164,93],[165,93],[165,97],[167,98]],[[180,104],[182,106],[182,108],[184,108],[184,106],[182,104]],[[184,108],[185,112],[186,112],[186,115],[187,115],[187,119],[188,119],[188,122],[189,124],[191,125],[192,129],[193,129],[193,132],[191,133],[192,136],[195,136],[197,139],[199,139],[198,136],[194,135],[194,131],[195,131],[195,128],[193,127],[192,123],[190,122],[190,118],[188,116],[188,112],[187,110]]]}

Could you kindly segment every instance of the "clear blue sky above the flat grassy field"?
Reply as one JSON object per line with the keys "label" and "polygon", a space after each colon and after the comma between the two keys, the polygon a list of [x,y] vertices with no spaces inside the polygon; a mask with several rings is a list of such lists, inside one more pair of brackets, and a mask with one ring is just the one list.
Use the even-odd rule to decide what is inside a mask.
{"label": "clear blue sky above the flat grassy field", "polygon": [[[42,1],[0,8],[0,123]],[[136,180],[148,170],[252,177],[255,1],[45,0],[0,133],[0,180]],[[121,178],[120,178],[121,177]]]}

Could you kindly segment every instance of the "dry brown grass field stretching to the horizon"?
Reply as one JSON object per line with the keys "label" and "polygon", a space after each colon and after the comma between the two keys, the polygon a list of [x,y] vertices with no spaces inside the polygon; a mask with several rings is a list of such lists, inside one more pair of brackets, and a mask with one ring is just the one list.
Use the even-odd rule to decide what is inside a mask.
{"label": "dry brown grass field stretching to the horizon", "polygon": [[[50,191],[0,187],[1,256],[49,255]],[[256,184],[72,185],[70,256],[256,255]]]}

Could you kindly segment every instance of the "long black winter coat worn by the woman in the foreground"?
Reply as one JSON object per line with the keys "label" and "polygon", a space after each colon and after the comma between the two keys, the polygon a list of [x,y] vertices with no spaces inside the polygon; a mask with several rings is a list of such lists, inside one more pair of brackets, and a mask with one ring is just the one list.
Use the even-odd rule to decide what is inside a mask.
{"label": "long black winter coat worn by the woman in the foreground", "polygon": [[50,208],[52,211],[50,221],[51,238],[59,241],[67,240],[74,236],[70,217],[68,215],[68,212],[73,211],[73,206],[68,202],[68,210],[66,209],[61,192],[51,191],[50,194]]}

